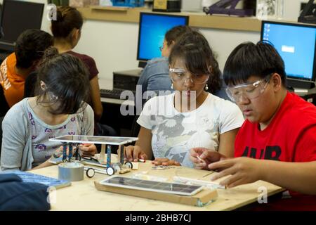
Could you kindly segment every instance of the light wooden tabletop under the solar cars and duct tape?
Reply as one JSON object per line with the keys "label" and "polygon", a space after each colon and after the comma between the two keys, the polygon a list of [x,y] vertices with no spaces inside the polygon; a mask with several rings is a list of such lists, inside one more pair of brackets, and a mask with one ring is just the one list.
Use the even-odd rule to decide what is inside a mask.
{"label": "light wooden tabletop under the solar cars and duct tape", "polygon": [[[186,176],[194,179],[209,180],[210,171],[190,169],[187,167],[171,167],[164,170],[152,169],[150,161],[145,163],[139,162],[139,169],[124,174],[131,176],[132,173],[147,171],[147,175],[164,176],[172,180],[173,176]],[[35,174],[58,177],[58,167],[46,167],[36,169]],[[257,181],[253,184],[246,184],[230,189],[218,189],[218,199],[204,207],[194,207],[176,203],[168,203],[159,200],[150,200],[147,198],[138,198],[129,195],[121,195],[96,190],[93,181],[104,179],[107,175],[96,174],[89,179],[86,174],[83,181],[72,182],[71,186],[58,189],[51,194],[51,210],[154,210],[154,211],[195,211],[195,210],[235,210],[239,207],[255,203],[261,194],[259,187],[265,187],[268,190],[268,196],[283,191],[279,186],[275,186],[265,181]]]}

